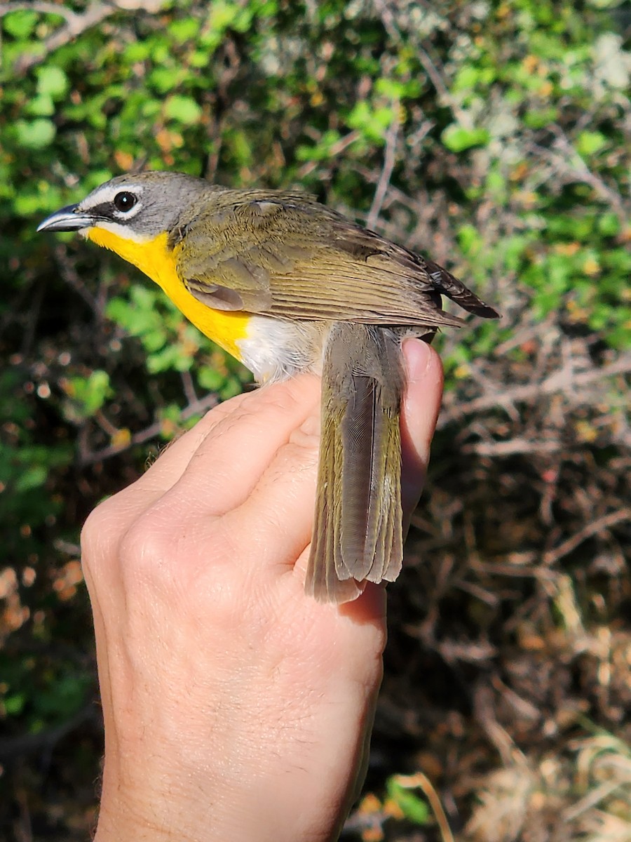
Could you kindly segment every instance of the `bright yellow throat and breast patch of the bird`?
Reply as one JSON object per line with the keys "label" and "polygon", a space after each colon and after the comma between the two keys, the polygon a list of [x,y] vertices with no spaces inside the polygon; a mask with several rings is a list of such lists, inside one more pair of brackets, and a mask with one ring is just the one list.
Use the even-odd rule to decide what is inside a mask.
{"label": "bright yellow throat and breast patch of the bird", "polygon": [[239,343],[241,339],[247,338],[251,315],[213,310],[194,298],[178,277],[175,256],[167,246],[166,233],[152,240],[137,242],[119,237],[104,228],[93,227],[87,230],[87,237],[137,266],[162,287],[173,304],[196,328],[237,360],[242,360]]}

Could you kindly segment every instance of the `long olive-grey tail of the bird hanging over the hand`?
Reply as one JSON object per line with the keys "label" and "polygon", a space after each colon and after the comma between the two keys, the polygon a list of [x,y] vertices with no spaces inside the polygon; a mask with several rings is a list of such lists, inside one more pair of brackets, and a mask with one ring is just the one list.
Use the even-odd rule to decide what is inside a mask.
{"label": "long olive-grey tail of the bird hanging over the hand", "polygon": [[315,528],[305,590],[355,599],[366,581],[401,568],[400,340],[388,329],[337,323],[326,345]]}

